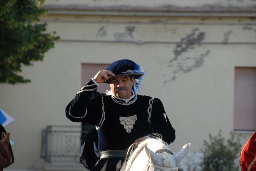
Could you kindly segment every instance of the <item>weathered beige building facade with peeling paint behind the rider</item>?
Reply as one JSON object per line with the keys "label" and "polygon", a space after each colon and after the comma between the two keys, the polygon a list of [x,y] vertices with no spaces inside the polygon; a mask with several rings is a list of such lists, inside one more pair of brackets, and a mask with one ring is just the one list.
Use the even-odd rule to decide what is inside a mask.
{"label": "weathered beige building facade with peeling paint behind the rider", "polygon": [[15,143],[15,162],[5,170],[84,170],[77,162],[44,160],[42,130],[81,126],[64,110],[88,77],[82,66],[119,59],[147,72],[141,94],[162,100],[176,129],[173,152],[192,143],[190,153],[199,154],[219,130],[226,138],[241,134],[244,144],[256,130],[255,7],[252,0],[46,0],[49,14],[41,21],[60,41],[43,62],[22,68],[31,83],[0,85],[0,108],[15,119],[5,127]]}

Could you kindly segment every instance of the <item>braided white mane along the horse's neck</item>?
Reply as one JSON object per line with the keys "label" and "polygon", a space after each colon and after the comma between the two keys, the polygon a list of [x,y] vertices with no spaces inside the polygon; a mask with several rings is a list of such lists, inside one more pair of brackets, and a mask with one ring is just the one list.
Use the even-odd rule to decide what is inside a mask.
{"label": "braided white mane along the horse's neck", "polygon": [[[132,166],[132,163],[134,160],[138,157],[140,152],[145,148],[146,145],[154,144],[154,147],[156,147],[156,150],[159,148],[163,148],[164,146],[167,146],[168,144],[165,143],[163,140],[159,138],[148,138],[145,141],[141,142],[139,146],[136,148],[134,152],[132,152],[129,160],[126,162],[124,171],[129,171],[130,167]],[[166,147],[167,148],[167,147]],[[156,152],[156,150],[151,149],[152,151]]]}

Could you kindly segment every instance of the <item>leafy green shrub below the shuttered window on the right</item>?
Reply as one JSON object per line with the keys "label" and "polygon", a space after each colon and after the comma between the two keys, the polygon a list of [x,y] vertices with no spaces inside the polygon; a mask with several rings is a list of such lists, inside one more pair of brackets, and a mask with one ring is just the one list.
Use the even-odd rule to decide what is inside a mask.
{"label": "leafy green shrub below the shuttered window on the right", "polygon": [[203,153],[201,170],[207,171],[236,171],[239,170],[240,138],[234,135],[225,141],[221,131],[217,136],[209,134],[209,141],[204,140],[201,149]]}

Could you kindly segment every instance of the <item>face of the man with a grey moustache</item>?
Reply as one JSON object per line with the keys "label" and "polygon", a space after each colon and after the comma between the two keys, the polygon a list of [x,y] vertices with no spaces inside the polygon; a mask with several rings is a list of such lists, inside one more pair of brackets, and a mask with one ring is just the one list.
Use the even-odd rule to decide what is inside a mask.
{"label": "face of the man with a grey moustache", "polygon": [[133,79],[128,75],[110,78],[110,88],[114,96],[120,99],[129,99],[132,96]]}

